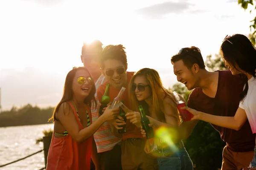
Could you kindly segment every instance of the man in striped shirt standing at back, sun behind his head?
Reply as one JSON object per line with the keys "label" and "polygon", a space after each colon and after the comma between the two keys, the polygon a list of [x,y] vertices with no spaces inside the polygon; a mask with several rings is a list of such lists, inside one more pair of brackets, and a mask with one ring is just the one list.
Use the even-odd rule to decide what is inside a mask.
{"label": "man in striped shirt standing at back, sun behind his head", "polygon": [[[81,61],[84,64],[84,67],[87,68],[92,74],[96,90],[105,82],[105,76],[101,74],[100,66],[99,66],[99,56],[102,53],[102,42],[99,40],[93,41],[90,44],[84,43],[81,51]],[[96,102],[99,104],[99,100],[97,95],[95,94]],[[97,106],[94,102],[91,104],[91,114],[92,114],[92,122],[95,122],[98,119],[98,111]],[[93,162],[96,166],[93,166],[93,162],[91,161],[91,170],[113,170],[111,165],[111,154],[112,156],[119,156],[120,154],[115,154],[111,151],[111,146],[108,143],[111,143],[112,140],[120,140],[116,138],[109,127],[108,122],[105,122],[93,135],[93,153],[98,153],[97,155],[92,155]],[[121,168],[121,162],[119,163],[119,167]]]}

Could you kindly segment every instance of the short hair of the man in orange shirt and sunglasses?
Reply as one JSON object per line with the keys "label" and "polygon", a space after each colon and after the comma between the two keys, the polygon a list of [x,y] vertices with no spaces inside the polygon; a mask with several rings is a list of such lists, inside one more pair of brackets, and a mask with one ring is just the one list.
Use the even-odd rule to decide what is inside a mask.
{"label": "short hair of the man in orange shirt and sunglasses", "polygon": [[117,59],[126,65],[127,57],[125,47],[122,44],[105,46],[100,56],[101,68],[104,68],[104,62],[108,59]]}

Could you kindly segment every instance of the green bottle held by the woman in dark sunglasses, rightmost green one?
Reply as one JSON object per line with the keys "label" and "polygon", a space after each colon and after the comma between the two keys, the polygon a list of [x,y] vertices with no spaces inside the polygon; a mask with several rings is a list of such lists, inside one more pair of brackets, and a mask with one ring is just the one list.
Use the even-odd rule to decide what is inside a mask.
{"label": "green bottle held by the woman in dark sunglasses, rightmost green one", "polygon": [[149,119],[146,117],[146,114],[142,108],[142,105],[139,106],[139,110],[140,110],[140,116],[141,116],[141,125],[143,130],[145,130],[146,133],[146,138],[147,139],[151,139],[154,138],[154,130],[152,127],[148,126],[148,124],[150,124]]}

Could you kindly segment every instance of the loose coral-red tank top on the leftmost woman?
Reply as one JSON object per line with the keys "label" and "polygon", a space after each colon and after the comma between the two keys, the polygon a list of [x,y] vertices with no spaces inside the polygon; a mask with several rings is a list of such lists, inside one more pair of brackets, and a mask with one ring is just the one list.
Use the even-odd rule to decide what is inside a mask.
{"label": "loose coral-red tank top on the leftmost woman", "polygon": [[[76,122],[80,129],[84,129],[79,121],[74,106],[68,102],[74,111]],[[86,107],[92,122],[90,109]],[[54,131],[49,148],[46,170],[90,170],[93,136],[81,144],[77,143],[70,135],[55,138]]]}

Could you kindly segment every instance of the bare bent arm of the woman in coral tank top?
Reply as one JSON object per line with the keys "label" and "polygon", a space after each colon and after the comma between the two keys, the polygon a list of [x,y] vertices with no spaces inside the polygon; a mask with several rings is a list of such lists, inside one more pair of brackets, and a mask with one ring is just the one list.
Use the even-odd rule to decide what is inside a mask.
{"label": "bare bent arm of the woman in coral tank top", "polygon": [[80,130],[74,116],[74,111],[71,109],[68,103],[64,102],[61,104],[58,112],[56,112],[56,117],[67,130],[69,135],[76,142],[81,143],[90,138],[90,136],[92,136],[105,121],[114,119],[116,113],[119,113],[116,112],[117,110],[119,111],[119,109],[109,109],[109,107],[110,106],[108,106],[105,113],[103,114],[104,116],[102,115],[90,126],[85,127],[82,130]]}

